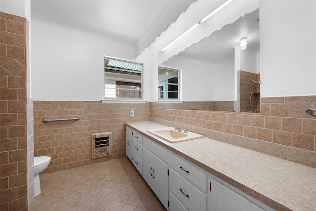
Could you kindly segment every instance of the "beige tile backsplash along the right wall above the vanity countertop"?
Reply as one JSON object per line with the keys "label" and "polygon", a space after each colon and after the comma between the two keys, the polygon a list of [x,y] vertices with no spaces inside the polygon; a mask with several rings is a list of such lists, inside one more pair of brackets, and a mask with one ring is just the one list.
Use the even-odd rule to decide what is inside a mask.
{"label": "beige tile backsplash along the right wall above the vanity countertop", "polygon": [[150,121],[178,126],[204,136],[316,168],[316,96],[261,98],[261,113],[159,109],[151,103]]}

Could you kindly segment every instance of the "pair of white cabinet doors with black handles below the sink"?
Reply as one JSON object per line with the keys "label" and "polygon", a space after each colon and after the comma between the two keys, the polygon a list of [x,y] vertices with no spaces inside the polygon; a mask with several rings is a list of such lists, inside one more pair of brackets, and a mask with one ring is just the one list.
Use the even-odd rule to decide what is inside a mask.
{"label": "pair of white cabinet doors with black handles below the sink", "polygon": [[143,148],[143,177],[167,209],[168,166],[146,148]]}

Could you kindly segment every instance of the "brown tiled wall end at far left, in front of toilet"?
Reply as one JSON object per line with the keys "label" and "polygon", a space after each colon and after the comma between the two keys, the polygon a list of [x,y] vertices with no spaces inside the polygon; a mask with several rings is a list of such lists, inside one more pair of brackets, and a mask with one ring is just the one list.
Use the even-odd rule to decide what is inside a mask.
{"label": "brown tiled wall end at far left, in front of toilet", "polygon": [[28,27],[25,18],[0,12],[1,211],[27,210],[33,202],[33,161],[28,166],[28,159],[33,160],[33,110],[27,89]]}

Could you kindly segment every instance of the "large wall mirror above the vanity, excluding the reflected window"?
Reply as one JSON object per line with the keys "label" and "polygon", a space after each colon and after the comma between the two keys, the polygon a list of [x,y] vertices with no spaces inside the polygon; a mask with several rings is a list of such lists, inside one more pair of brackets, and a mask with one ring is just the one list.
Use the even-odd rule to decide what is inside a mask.
{"label": "large wall mirror above the vanity, excluding the reflected window", "polygon": [[[259,22],[257,8],[159,62],[182,70],[184,101],[159,103],[159,108],[260,112]],[[242,38],[245,49],[240,46]]]}

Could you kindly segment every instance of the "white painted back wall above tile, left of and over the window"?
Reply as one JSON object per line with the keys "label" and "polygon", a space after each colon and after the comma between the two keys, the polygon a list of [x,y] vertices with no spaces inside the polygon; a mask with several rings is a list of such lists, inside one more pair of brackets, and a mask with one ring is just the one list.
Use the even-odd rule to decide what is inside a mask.
{"label": "white painted back wall above tile, left of and over the window", "polygon": [[135,60],[135,48],[32,19],[33,99],[104,99],[104,55]]}

